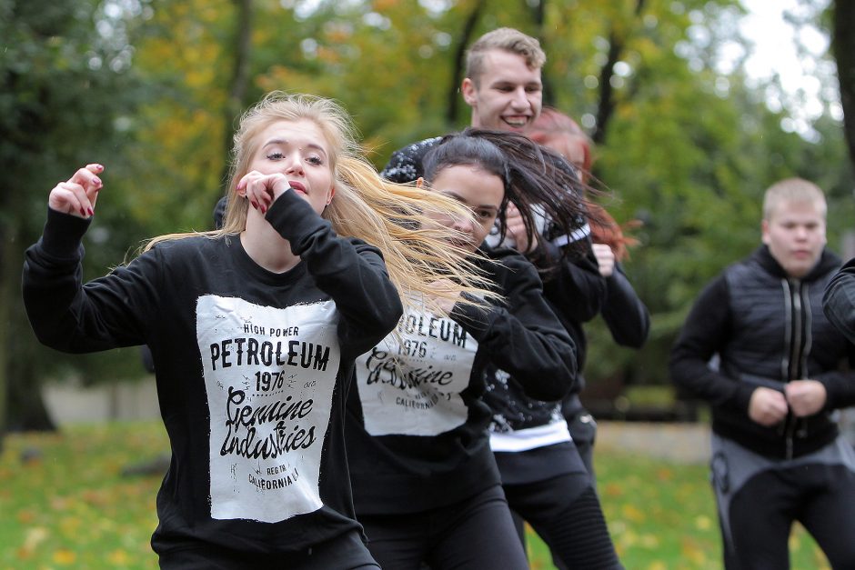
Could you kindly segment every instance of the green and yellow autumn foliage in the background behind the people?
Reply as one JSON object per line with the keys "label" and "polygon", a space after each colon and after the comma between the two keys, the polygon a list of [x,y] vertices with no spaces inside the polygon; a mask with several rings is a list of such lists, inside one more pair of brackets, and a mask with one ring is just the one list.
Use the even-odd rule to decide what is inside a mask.
{"label": "green and yellow autumn foliage in the background behind the people", "polygon": [[[700,287],[759,243],[768,185],[802,175],[825,188],[838,248],[855,214],[840,120],[827,113],[812,139],[801,138],[781,126],[797,101],[781,99],[772,112],[765,97],[776,85],[750,83],[739,62],[717,66],[721,45],[744,45],[738,0],[541,2],[255,0],[243,85],[234,73],[240,3],[0,0],[0,163],[16,190],[0,198],[13,244],[0,257],[0,291],[9,292],[13,330],[23,332],[11,350],[38,355],[24,362],[45,372],[69,363],[94,379],[114,377],[98,374],[108,366],[139,370],[136,358],[115,353],[55,357],[28,334],[16,275],[56,180],[85,162],[107,166],[85,242],[91,277],[146,237],[211,226],[235,104],[246,108],[269,90],[342,102],[382,166],[402,145],[468,124],[455,74],[477,14],[469,41],[500,25],[540,38],[550,102],[603,128],[595,174],[609,191],[604,204],[621,223],[643,223],[630,231],[641,245],[625,265],[653,315],[649,344],[616,352],[595,325],[589,381],[622,371],[632,382],[665,382],[670,344]],[[613,46],[616,65],[604,69]],[[244,99],[233,101],[234,92]],[[594,125],[598,116],[608,123]]]}

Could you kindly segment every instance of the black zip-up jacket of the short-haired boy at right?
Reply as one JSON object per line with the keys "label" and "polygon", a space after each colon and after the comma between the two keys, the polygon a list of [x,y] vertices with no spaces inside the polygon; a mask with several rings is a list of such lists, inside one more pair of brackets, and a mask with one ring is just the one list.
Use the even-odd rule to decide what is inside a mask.
{"label": "black zip-up jacket of the short-haired boy at right", "polygon": [[[670,358],[671,379],[709,402],[712,430],[760,455],[792,458],[839,434],[830,411],[855,403],[855,347],[822,313],[822,294],[840,259],[824,251],[802,279],[788,277],[762,245],[701,292]],[[709,365],[719,355],[718,369]],[[792,414],[766,427],[749,418],[759,386],[783,391],[790,380],[817,380],[827,401],[816,415]]]}

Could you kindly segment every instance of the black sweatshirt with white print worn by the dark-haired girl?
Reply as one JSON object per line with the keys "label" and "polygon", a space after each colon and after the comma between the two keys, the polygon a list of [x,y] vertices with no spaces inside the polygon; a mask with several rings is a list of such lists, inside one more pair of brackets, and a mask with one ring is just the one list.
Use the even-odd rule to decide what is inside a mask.
{"label": "black sweatshirt with white print worn by the dark-haired girl", "polygon": [[[397,331],[357,360],[348,400],[347,453],[358,515],[454,504],[499,484],[480,396],[488,363],[528,394],[556,400],[576,375],[572,341],[522,255],[484,248],[481,262],[507,305],[455,305],[451,319],[404,315]],[[398,335],[396,337],[396,335]]]}

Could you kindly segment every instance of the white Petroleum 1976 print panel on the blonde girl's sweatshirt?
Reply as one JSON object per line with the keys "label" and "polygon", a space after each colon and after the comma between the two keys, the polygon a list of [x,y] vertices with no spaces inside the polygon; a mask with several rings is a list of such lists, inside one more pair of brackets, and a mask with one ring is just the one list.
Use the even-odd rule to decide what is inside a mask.
{"label": "white Petroleum 1976 print panel on the blonde girl's sweatshirt", "polygon": [[213,518],[276,523],[321,507],[321,448],[341,357],[337,319],[332,301],[280,309],[199,298]]}

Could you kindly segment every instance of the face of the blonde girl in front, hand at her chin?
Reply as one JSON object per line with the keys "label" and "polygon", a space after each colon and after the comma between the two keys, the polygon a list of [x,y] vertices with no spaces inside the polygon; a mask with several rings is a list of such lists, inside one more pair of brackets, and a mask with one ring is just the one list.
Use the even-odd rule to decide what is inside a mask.
{"label": "face of the blonde girl in front, hand at her chin", "polygon": [[327,139],[308,119],[271,123],[258,134],[258,149],[249,170],[281,173],[288,184],[320,214],[335,194]]}

